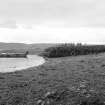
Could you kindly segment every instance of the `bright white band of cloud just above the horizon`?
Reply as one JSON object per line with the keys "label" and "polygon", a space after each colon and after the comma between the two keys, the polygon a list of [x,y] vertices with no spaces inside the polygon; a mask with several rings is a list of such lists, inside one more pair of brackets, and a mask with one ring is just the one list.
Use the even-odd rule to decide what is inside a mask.
{"label": "bright white band of cloud just above the horizon", "polygon": [[22,43],[96,43],[105,44],[104,28],[64,28],[34,26],[32,29],[0,29],[2,42]]}

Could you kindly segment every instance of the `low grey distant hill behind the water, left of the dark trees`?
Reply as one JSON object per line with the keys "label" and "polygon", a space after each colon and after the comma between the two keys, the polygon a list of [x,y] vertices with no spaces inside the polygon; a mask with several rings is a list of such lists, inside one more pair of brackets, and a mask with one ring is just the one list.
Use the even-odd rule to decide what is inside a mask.
{"label": "low grey distant hill behind the water, left of the dark trees", "polygon": [[24,43],[2,43],[0,42],[0,52],[24,52],[29,51],[30,54],[38,54],[44,49],[54,46],[55,44],[24,44]]}

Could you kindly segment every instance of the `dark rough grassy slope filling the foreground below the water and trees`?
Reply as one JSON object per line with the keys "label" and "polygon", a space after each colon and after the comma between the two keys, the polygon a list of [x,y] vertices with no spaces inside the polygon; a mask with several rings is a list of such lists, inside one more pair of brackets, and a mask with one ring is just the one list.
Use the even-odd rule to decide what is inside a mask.
{"label": "dark rough grassy slope filling the foreground below the water and trees", "polygon": [[0,105],[104,105],[105,54],[48,59],[0,74]]}

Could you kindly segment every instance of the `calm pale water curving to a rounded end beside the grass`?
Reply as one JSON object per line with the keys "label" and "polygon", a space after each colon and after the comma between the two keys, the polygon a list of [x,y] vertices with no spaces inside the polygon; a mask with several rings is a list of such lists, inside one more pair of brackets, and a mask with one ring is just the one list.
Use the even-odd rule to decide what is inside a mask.
{"label": "calm pale water curving to a rounded end beside the grass", "polygon": [[37,55],[27,58],[0,58],[0,72],[13,72],[43,64],[45,60]]}

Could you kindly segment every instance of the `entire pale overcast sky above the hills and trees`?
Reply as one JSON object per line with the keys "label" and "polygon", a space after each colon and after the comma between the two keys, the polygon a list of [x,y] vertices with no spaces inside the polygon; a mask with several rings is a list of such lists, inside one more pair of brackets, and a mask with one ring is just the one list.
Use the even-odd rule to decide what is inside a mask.
{"label": "entire pale overcast sky above the hills and trees", "polygon": [[0,42],[105,44],[105,0],[0,0]]}

